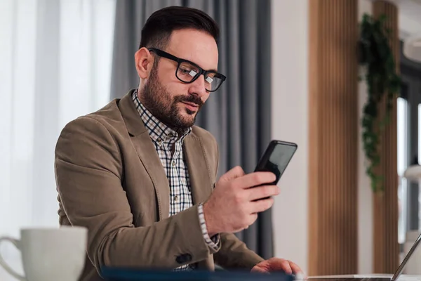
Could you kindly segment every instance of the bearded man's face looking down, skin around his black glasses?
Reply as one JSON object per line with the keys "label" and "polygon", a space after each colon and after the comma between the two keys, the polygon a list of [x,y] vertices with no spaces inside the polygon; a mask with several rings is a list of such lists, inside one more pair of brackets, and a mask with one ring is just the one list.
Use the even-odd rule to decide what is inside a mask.
{"label": "bearded man's face looking down, skin around his black glasses", "polygon": [[[165,50],[178,58],[189,60],[204,70],[217,70],[218,46],[215,39],[197,30],[176,30]],[[154,53],[152,53],[154,55]],[[196,115],[209,97],[203,75],[190,84],[176,76],[178,63],[159,58],[154,65],[140,99],[152,115],[173,129],[193,126]]]}

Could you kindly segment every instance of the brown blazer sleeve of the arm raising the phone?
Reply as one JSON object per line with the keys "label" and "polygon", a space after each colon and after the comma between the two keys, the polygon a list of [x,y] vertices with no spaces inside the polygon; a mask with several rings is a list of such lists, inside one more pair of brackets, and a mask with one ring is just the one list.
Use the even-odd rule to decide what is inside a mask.
{"label": "brown blazer sleeve of the arm raising the phone", "polygon": [[135,227],[121,182],[119,145],[97,119],[79,117],[55,148],[58,197],[69,223],[88,228],[87,254],[102,266],[177,268],[208,258],[197,206],[151,226]]}

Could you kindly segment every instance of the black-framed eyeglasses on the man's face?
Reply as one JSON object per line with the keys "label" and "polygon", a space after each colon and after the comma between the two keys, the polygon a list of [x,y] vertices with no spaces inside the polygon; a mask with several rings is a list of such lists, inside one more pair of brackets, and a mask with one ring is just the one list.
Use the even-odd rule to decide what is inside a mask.
{"label": "black-framed eyeglasses on the man's face", "polygon": [[175,70],[175,77],[184,83],[192,83],[203,74],[203,77],[205,77],[205,89],[208,92],[218,90],[222,85],[222,82],[227,79],[227,77],[215,70],[203,70],[199,65],[196,65],[196,63],[177,58],[175,55],[171,55],[170,53],[161,51],[157,48],[149,48],[148,50],[156,53],[156,55],[159,55],[160,57],[177,62],[178,65],[177,70]]}

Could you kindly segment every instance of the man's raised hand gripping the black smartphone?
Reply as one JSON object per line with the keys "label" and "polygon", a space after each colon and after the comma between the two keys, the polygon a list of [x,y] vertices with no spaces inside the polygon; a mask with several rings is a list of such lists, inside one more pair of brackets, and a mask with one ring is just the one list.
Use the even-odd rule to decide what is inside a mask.
{"label": "man's raised hand gripping the black smartphone", "polygon": [[258,218],[259,212],[272,207],[272,198],[262,198],[279,194],[278,186],[270,185],[275,179],[276,176],[270,172],[245,175],[239,166],[221,176],[212,195],[203,204],[210,237],[248,228]]}

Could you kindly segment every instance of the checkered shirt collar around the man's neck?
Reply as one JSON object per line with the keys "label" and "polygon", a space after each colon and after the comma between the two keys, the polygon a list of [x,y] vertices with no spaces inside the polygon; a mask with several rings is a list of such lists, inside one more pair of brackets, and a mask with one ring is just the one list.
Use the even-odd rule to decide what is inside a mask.
{"label": "checkered shirt collar around the man's neck", "polygon": [[[175,143],[178,140],[178,133],[161,122],[158,118],[154,117],[154,115],[146,109],[145,105],[140,102],[137,89],[133,91],[132,99],[152,141],[161,145],[163,142]],[[185,130],[182,136],[180,136],[180,141],[182,142],[190,133],[192,133],[191,127]]]}

